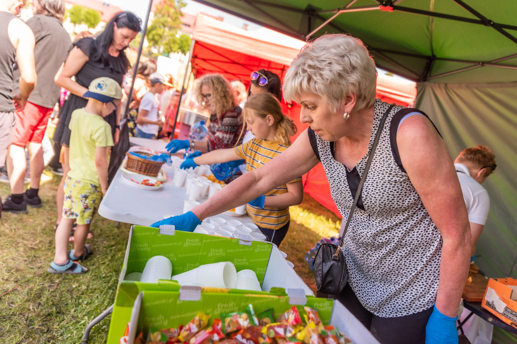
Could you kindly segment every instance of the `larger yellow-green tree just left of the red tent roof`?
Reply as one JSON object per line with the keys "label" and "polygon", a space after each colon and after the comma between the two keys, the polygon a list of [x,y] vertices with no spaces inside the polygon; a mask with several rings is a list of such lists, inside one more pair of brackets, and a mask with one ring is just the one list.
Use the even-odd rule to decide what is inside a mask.
{"label": "larger yellow-green tree just left of the red tent roof", "polygon": [[149,48],[157,48],[160,54],[186,54],[189,51],[189,36],[178,35],[183,15],[181,8],[185,5],[183,0],[164,0],[161,5],[156,6],[153,23],[147,28]]}

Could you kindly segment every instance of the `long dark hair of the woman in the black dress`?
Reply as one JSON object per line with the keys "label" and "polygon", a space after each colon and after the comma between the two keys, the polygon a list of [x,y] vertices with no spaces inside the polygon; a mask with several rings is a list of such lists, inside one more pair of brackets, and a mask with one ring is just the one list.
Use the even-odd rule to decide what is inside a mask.
{"label": "long dark hair of the woman in the black dress", "polygon": [[[140,32],[142,26],[142,20],[131,12],[118,12],[113,18],[106,24],[104,31],[95,39],[96,52],[93,56],[95,61],[100,61],[104,64],[110,63],[110,55],[108,54],[108,48],[113,41],[113,27],[117,23],[117,27],[129,28],[135,32]],[[122,54],[124,61],[124,69],[127,70],[129,61],[126,57],[126,53],[121,50],[119,54]]]}

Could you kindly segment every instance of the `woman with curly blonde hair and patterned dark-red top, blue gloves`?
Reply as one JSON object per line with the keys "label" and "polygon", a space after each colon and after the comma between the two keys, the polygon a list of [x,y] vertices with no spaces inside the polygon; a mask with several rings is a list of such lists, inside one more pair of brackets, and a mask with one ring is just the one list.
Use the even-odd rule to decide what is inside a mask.
{"label": "woman with curly blonde hair and patterned dark-red top, blue gloves", "polygon": [[202,153],[232,148],[242,143],[242,110],[237,105],[229,81],[219,74],[208,74],[197,80],[194,92],[203,106],[211,113],[206,141],[172,140],[166,146],[170,153],[180,149],[192,149]]}

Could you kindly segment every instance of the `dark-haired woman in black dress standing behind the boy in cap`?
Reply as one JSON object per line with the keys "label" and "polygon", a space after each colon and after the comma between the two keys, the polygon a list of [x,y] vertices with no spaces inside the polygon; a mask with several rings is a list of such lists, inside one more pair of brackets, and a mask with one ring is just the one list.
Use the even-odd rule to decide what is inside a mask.
{"label": "dark-haired woman in black dress standing behind the boy in cap", "polygon": [[[58,86],[70,91],[70,95],[59,113],[59,123],[54,134],[54,141],[62,145],[60,160],[63,165],[63,178],[56,196],[56,223],[61,220],[63,185],[67,172],[70,170],[68,163],[70,129],[68,124],[72,112],[86,105],[87,99],[83,98],[83,94],[88,90],[92,80],[105,76],[122,84],[124,74],[129,68],[129,60],[124,50],[141,30],[141,25],[140,18],[131,12],[116,13],[98,37],[86,37],[72,45],[68,57],[54,77]],[[104,119],[112,127],[113,141],[118,142],[120,108]]]}

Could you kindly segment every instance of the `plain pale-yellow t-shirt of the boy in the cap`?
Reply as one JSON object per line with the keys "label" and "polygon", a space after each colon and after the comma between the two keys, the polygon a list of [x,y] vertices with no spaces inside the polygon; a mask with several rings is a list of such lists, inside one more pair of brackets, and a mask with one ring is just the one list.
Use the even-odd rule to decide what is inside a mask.
{"label": "plain pale-yellow t-shirt of the boy in the cap", "polygon": [[100,186],[95,166],[95,150],[97,147],[113,145],[111,126],[102,116],[88,113],[81,108],[72,112],[68,127],[71,130],[68,176],[84,183]]}

